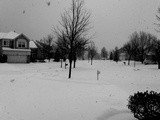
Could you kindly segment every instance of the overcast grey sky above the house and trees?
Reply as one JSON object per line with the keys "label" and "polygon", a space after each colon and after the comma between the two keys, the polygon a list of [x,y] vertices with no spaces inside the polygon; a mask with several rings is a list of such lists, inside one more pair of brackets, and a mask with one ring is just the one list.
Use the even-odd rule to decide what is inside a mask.
{"label": "overcast grey sky above the house and trees", "polygon": [[[47,2],[51,4],[48,6]],[[60,14],[71,0],[0,0],[0,32],[15,30],[31,40],[52,33]],[[91,23],[96,33],[93,41],[100,50],[121,47],[134,31],[146,31],[160,38],[154,30],[160,0],[85,0],[92,12]]]}

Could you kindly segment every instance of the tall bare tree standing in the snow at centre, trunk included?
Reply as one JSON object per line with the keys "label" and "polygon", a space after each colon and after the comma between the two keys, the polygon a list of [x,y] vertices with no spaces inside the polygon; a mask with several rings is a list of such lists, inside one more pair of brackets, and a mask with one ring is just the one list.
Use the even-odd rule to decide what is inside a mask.
{"label": "tall bare tree standing in the snow at centre, trunk included", "polygon": [[64,36],[69,43],[69,76],[71,78],[74,46],[79,38],[85,38],[90,29],[91,14],[84,8],[83,0],[72,0],[71,8],[61,15],[61,28],[54,29],[57,36]]}

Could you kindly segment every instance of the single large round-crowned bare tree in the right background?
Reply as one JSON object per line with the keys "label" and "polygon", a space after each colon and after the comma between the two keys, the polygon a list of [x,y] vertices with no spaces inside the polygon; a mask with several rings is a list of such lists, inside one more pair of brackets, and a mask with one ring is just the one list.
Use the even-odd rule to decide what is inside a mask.
{"label": "single large round-crowned bare tree in the right background", "polygon": [[135,60],[140,60],[143,64],[146,55],[151,51],[154,36],[146,32],[134,32],[130,36],[130,41],[124,44],[123,51],[128,54],[128,65],[130,64],[131,57]]}

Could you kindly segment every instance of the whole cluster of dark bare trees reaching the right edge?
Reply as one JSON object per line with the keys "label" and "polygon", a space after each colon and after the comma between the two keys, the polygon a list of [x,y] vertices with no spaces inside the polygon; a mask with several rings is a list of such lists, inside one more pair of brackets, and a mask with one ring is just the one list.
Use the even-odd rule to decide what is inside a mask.
{"label": "whole cluster of dark bare trees reaching the right edge", "polygon": [[130,35],[121,50],[127,54],[128,65],[130,60],[140,61],[142,64],[148,54],[155,56],[160,69],[160,41],[156,36],[144,31],[134,32]]}

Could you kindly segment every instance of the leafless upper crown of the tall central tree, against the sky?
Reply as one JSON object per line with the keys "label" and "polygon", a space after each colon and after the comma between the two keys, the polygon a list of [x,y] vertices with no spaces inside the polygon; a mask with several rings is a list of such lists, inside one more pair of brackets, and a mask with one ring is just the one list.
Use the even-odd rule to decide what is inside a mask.
{"label": "leafless upper crown of the tall central tree, against the sky", "polygon": [[84,9],[83,0],[72,0],[72,7],[61,15],[60,22],[66,37],[74,41],[80,36],[84,36],[89,30],[89,20],[91,14]]}

